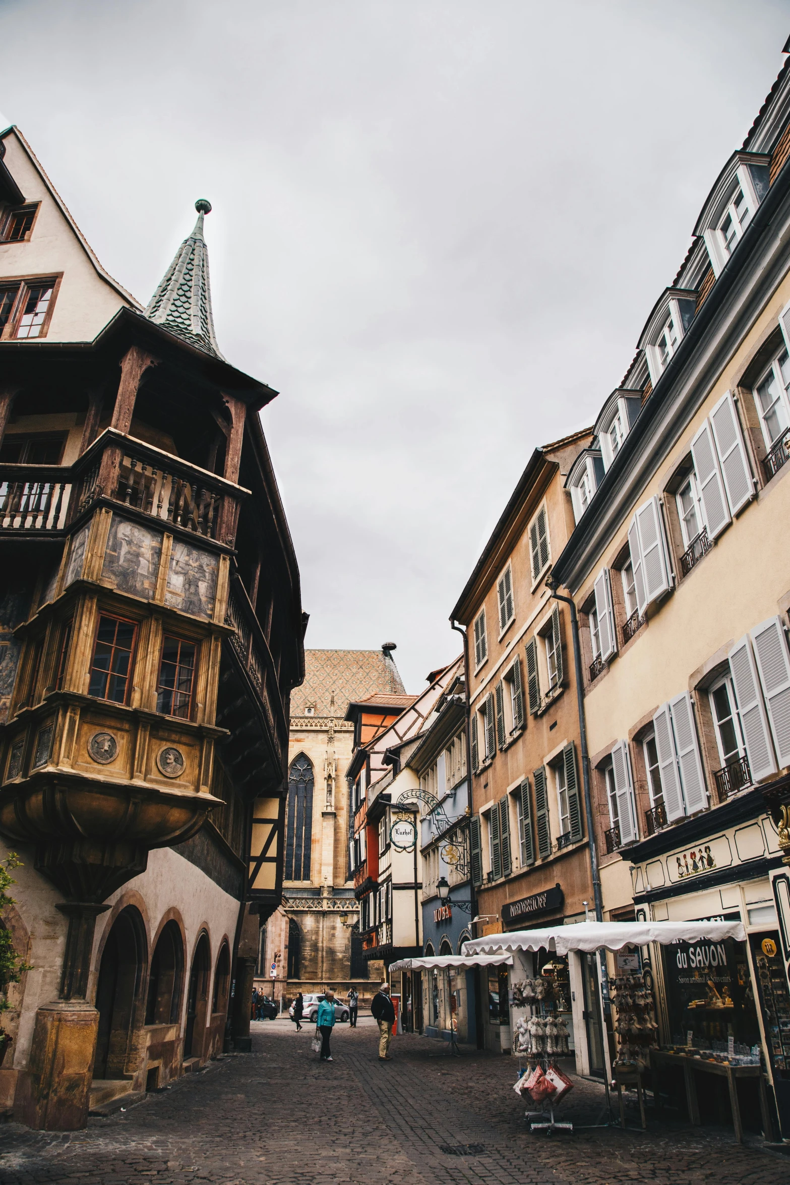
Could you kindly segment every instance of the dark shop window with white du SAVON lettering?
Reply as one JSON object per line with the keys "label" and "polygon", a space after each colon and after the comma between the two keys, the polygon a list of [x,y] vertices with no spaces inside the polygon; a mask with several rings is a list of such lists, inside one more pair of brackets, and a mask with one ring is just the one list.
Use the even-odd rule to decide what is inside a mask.
{"label": "dark shop window with white du SAVON lettering", "polygon": [[669,1030],[674,1045],[749,1053],[759,1039],[746,944],[674,942],[662,947]]}

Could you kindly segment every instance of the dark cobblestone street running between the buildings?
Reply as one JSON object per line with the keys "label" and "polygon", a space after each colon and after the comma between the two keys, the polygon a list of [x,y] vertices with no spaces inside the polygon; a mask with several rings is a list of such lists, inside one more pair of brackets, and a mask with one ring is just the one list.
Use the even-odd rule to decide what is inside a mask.
{"label": "dark cobblestone street running between the buildings", "polygon": [[[693,1129],[649,1116],[647,1133],[579,1126],[551,1139],[533,1135],[510,1089],[512,1059],[475,1052],[449,1058],[437,1042],[402,1037],[393,1042],[393,1061],[380,1064],[368,1017],[357,1030],[335,1027],[332,1064],[311,1052],[309,1026],[298,1035],[283,1020],[252,1029],[251,1055],[211,1063],[136,1107],[89,1120],[85,1132],[0,1128],[0,1181],[786,1185],[790,1179],[790,1159],[738,1146],[726,1128]],[[577,1125],[605,1121],[597,1085],[577,1080],[567,1103]],[[635,1107],[628,1117],[634,1125]]]}

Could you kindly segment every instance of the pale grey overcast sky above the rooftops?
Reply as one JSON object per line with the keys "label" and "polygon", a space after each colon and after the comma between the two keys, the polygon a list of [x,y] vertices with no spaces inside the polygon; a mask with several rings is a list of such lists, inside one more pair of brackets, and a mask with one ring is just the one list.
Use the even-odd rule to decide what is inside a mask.
{"label": "pale grey overcast sky above the rooftops", "polygon": [[591,423],[781,65],[771,0],[0,0],[0,110],[143,303],[207,197],[307,645],[410,691],[532,449]]}

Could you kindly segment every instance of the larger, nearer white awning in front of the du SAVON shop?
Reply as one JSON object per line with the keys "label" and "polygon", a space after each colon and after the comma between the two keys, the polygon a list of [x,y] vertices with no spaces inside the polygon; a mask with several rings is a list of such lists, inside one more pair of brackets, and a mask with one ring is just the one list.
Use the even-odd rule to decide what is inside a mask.
{"label": "larger, nearer white awning in front of the du SAVON shop", "polygon": [[623,947],[646,947],[649,942],[668,946],[670,942],[724,942],[725,939],[746,941],[743,922],[574,922],[572,925],[551,925],[545,930],[514,930],[512,934],[488,934],[484,939],[464,942],[464,955],[489,954],[492,960],[501,952],[554,950],[622,950]]}

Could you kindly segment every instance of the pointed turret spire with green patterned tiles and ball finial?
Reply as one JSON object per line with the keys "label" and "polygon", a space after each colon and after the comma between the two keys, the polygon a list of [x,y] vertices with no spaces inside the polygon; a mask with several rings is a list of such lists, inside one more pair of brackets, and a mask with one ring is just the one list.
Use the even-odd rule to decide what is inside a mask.
{"label": "pointed turret spire with green patterned tiles and ball finial", "polygon": [[185,341],[221,358],[211,315],[208,251],[203,237],[203,219],[211,212],[211,203],[199,198],[194,209],[198,211],[194,230],[175,252],[150,299],[146,316]]}

